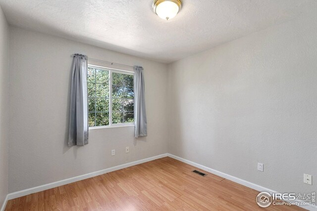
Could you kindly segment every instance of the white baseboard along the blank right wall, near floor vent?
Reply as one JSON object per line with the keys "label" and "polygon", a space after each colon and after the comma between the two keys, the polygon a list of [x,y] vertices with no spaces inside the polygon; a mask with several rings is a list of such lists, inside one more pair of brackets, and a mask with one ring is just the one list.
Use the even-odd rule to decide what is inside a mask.
{"label": "white baseboard along the blank right wall, near floor vent", "polygon": [[[228,179],[228,180],[231,180],[233,182],[239,183],[239,184],[244,185],[246,187],[252,188],[254,190],[257,190],[257,191],[260,191],[260,192],[265,191],[265,192],[268,192],[268,193],[278,193],[277,191],[265,188],[265,187],[263,187],[261,185],[257,185],[257,184],[254,184],[252,182],[248,182],[246,180],[240,179],[238,177],[231,176],[229,174],[223,173],[221,171],[205,167],[203,165],[194,163],[194,162],[186,160],[184,158],[180,158],[178,156],[175,156],[175,155],[172,155],[172,154],[169,154],[169,153],[167,153],[167,156],[170,157],[170,158],[173,158],[175,160],[181,161],[181,162],[183,162],[185,164],[191,165],[193,167],[197,167],[199,169],[203,169],[203,170],[208,171],[210,173],[213,173],[215,175],[221,176],[221,177],[223,177],[225,179]],[[309,210],[309,211],[316,211],[317,210],[317,207],[312,207],[312,206],[307,206],[307,205],[306,206],[305,205],[304,206],[299,206],[299,207],[304,208],[304,209]]]}

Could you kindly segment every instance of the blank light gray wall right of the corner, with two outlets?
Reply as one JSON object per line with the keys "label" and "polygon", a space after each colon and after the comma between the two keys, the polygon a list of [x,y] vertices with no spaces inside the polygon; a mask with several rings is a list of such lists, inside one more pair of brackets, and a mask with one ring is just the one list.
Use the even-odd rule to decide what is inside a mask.
{"label": "blank light gray wall right of the corner, with two outlets", "polygon": [[275,191],[316,191],[316,23],[302,17],[170,64],[168,152]]}

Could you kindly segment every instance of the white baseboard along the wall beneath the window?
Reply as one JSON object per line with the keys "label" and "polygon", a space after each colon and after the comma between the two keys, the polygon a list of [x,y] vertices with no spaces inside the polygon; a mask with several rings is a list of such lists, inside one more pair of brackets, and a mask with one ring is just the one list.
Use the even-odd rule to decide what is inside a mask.
{"label": "white baseboard along the wall beneath the window", "polygon": [[63,179],[63,180],[52,182],[52,183],[49,183],[49,184],[40,185],[40,186],[37,186],[37,187],[34,187],[34,188],[29,188],[29,189],[26,189],[26,190],[17,191],[17,192],[14,192],[14,193],[9,193],[7,195],[7,197],[6,197],[6,200],[19,198],[19,197],[26,196],[26,195],[29,195],[29,194],[32,194],[32,193],[37,193],[37,192],[48,190],[48,189],[51,189],[51,188],[55,188],[55,187],[58,187],[58,186],[61,186],[61,185],[69,184],[69,183],[72,183],[72,182],[77,182],[77,181],[80,181],[80,180],[83,180],[83,179],[88,179],[88,178],[91,178],[91,177],[94,177],[94,176],[98,176],[98,175],[101,175],[101,174],[104,174],[104,173],[108,173],[108,172],[111,172],[111,171],[132,167],[132,166],[135,166],[135,165],[138,165],[138,164],[142,164],[142,163],[146,163],[146,162],[149,162],[149,161],[157,160],[157,159],[163,158],[163,157],[167,157],[167,153],[166,154],[157,155],[157,156],[154,156],[154,157],[151,157],[151,158],[142,159],[142,160],[139,160],[139,161],[134,161],[134,162],[127,163],[127,164],[122,164],[122,165],[111,167],[111,168],[108,168],[108,169],[95,171],[95,172],[92,172],[92,173],[87,173],[87,174],[83,174],[83,175],[80,175],[80,176],[75,176],[75,177],[72,177],[72,178]]}

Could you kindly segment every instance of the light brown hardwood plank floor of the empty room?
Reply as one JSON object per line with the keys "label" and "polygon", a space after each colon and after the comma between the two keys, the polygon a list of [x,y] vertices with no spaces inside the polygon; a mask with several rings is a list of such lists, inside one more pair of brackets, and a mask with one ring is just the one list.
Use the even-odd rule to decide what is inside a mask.
{"label": "light brown hardwood plank floor of the empty room", "polygon": [[295,206],[260,208],[258,191],[172,158],[126,169],[8,201],[5,211],[139,210],[304,210]]}

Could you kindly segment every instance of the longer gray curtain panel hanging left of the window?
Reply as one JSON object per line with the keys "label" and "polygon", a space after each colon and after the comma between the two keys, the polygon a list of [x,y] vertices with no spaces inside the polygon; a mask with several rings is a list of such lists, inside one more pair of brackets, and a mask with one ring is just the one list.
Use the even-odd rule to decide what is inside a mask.
{"label": "longer gray curtain panel hanging left of the window", "polygon": [[88,144],[87,56],[73,55],[68,146]]}

